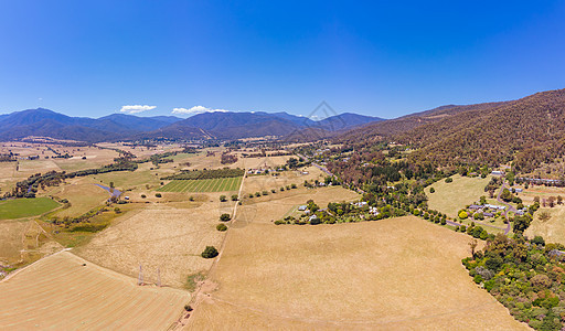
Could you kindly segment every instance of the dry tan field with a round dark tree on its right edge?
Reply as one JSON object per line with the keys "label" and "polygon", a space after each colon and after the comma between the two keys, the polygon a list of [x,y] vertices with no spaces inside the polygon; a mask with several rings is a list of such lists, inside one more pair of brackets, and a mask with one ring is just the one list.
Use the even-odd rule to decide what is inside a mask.
{"label": "dry tan field with a round dark tree on its right edge", "polygon": [[220,247],[225,235],[215,226],[221,213],[231,213],[233,203],[223,205],[216,195],[210,195],[210,200],[193,202],[191,209],[148,204],[121,217],[76,252],[132,277],[142,265],[146,278],[152,281],[157,281],[159,268],[162,284],[183,287],[189,275],[210,268],[212,260],[200,254],[207,245]]}

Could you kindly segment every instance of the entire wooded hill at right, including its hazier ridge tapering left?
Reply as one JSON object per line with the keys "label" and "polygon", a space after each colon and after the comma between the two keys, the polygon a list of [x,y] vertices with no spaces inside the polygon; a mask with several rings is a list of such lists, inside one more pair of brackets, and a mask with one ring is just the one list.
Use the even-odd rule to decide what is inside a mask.
{"label": "entire wooded hill at right, including its hazier ridge tapering left", "polygon": [[513,161],[516,172],[531,173],[542,164],[563,163],[564,115],[565,89],[558,89],[513,102],[444,106],[354,129],[334,141],[409,146],[415,149],[409,163],[497,167]]}

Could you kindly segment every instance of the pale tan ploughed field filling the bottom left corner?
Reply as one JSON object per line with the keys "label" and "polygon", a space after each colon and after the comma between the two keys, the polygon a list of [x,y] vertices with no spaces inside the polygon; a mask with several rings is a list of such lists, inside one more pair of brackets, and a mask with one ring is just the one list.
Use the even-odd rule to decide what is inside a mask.
{"label": "pale tan ploughed field filling the bottom left corner", "polygon": [[190,300],[136,282],[68,252],[51,255],[0,282],[0,329],[166,330]]}

